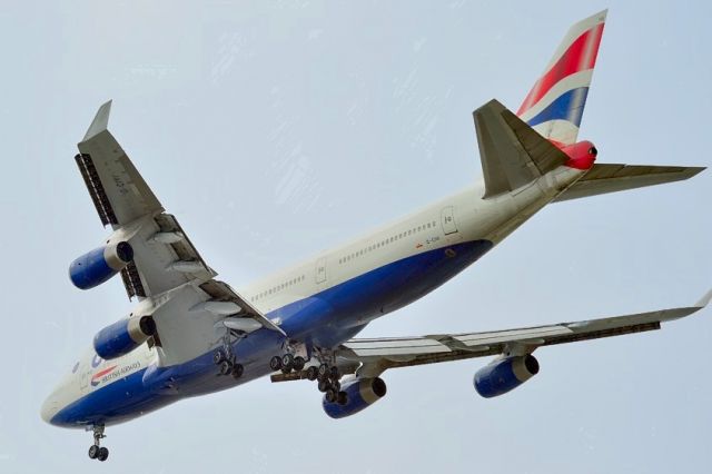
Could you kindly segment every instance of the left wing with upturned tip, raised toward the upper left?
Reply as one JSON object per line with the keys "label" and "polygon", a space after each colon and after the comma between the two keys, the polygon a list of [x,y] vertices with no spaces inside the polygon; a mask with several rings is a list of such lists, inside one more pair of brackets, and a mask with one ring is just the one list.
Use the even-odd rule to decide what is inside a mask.
{"label": "left wing with upturned tip, raised toward the upper left", "polygon": [[121,271],[129,298],[139,297],[137,314],[156,320],[164,365],[188,361],[215,344],[222,332],[249,333],[267,327],[284,335],[229,285],[215,279],[175,216],[164,207],[108,130],[111,102],[97,112],[76,160],[110,238],[128,240],[134,260]]}

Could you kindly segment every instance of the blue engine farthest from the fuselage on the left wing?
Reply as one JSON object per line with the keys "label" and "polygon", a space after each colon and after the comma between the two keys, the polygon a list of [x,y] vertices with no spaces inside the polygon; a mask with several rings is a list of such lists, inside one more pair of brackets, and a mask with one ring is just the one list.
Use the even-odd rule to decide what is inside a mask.
{"label": "blue engine farthest from the fuselage on the left wing", "polygon": [[69,278],[77,288],[93,288],[121,271],[132,259],[134,249],[128,241],[95,248],[69,265]]}

